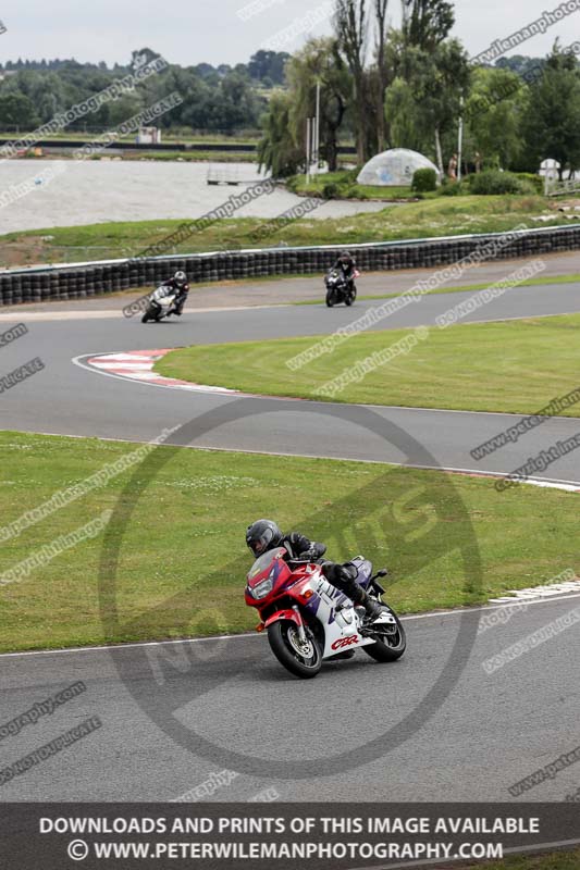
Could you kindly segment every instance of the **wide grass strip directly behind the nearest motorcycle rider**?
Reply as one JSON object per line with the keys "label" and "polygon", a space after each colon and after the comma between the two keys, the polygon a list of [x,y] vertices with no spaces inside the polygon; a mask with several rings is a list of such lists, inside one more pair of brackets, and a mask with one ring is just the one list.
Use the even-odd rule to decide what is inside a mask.
{"label": "wide grass strip directly behind the nearest motorcycle rider", "polygon": [[[136,449],[0,433],[2,526]],[[388,564],[390,599],[402,612],[484,601],[578,566],[578,505],[568,493],[497,493],[484,478],[328,459],[172,447],[159,448],[153,459],[161,455],[166,462],[150,483],[145,468],[125,471],[0,550],[2,573],[133,489],[140,493],[121,546],[116,630],[104,632],[99,611],[100,535],[0,585],[1,651],[247,631],[256,614],[243,597],[244,532],[262,515],[326,542],[331,558],[363,551]],[[472,539],[469,522],[483,563],[479,591],[466,588],[458,549]],[[477,552],[467,556],[469,577],[476,561]],[[106,616],[112,608],[106,597]]]}

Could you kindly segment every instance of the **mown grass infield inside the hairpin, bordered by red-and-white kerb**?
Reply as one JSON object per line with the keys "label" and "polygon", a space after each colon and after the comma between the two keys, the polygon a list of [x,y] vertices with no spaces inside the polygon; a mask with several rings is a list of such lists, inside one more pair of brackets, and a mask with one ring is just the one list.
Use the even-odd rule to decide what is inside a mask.
{"label": "mown grass infield inside the hairpin, bordered by red-and-white kerb", "polygon": [[[345,311],[344,323],[355,319]],[[580,314],[434,327],[429,337],[346,386],[335,401],[534,413],[579,384]],[[287,360],[325,336],[173,350],[156,363],[169,377],[248,393],[323,399],[320,387],[408,330],[356,335],[297,371]],[[579,417],[572,406],[563,414]]]}

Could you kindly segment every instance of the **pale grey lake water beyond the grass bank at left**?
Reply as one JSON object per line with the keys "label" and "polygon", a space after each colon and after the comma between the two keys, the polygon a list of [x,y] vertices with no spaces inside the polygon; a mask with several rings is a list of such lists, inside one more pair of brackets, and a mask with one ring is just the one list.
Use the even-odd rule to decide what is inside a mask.
{"label": "pale grey lake water beyond the grass bank at left", "polygon": [[[244,185],[208,185],[208,171],[247,184],[260,179],[256,166],[247,163],[4,160],[0,162],[0,234],[108,221],[201,217],[245,189]],[[22,196],[24,185],[32,189]],[[276,188],[234,216],[276,217],[301,201]],[[342,217],[384,208],[381,202],[330,201],[308,216]]]}

